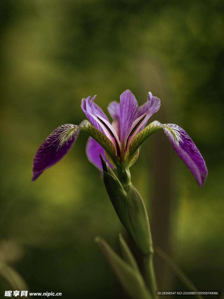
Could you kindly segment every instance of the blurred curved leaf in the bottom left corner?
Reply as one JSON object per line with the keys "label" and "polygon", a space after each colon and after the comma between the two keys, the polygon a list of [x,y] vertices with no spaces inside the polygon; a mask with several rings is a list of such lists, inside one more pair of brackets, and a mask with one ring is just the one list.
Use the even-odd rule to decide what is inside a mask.
{"label": "blurred curved leaf in the bottom left corner", "polygon": [[4,262],[0,262],[0,275],[7,280],[15,291],[28,290],[28,286],[22,276]]}

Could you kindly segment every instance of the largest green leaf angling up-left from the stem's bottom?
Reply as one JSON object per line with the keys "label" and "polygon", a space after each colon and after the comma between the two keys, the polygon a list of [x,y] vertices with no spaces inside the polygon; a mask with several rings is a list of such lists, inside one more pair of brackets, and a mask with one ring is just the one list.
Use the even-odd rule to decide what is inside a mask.
{"label": "largest green leaf angling up-left from the stem's bottom", "polygon": [[98,237],[95,241],[99,244],[112,270],[129,296],[132,299],[150,299],[151,295],[139,271],[122,260],[102,238]]}

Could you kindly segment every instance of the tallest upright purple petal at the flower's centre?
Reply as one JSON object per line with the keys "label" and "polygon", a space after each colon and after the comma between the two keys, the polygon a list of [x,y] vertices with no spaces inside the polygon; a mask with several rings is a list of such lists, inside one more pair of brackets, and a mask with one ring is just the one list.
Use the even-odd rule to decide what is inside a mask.
{"label": "tallest upright purple petal at the flower's centre", "polygon": [[124,146],[137,116],[138,103],[134,94],[125,90],[120,96],[120,105],[120,141]]}

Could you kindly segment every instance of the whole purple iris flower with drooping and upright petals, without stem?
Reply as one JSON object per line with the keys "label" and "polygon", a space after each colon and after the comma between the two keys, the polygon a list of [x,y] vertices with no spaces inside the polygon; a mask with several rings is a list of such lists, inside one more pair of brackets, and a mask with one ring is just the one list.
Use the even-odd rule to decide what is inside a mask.
{"label": "whole purple iris flower with drooping and upright petals, without stem", "polygon": [[134,94],[130,90],[124,91],[120,96],[120,103],[113,101],[108,106],[112,123],[94,103],[95,97],[82,99],[81,108],[89,121],[83,120],[80,125],[59,126],[41,144],[33,159],[33,181],[64,157],[80,131],[90,136],[86,153],[92,164],[101,170],[102,155],[111,167],[123,171],[135,163],[142,142],[162,129],[198,184],[204,184],[208,174],[205,161],[188,134],[172,123],[154,121],[146,126],[149,118],[160,107],[160,100],[151,92],[148,93],[147,102],[139,107]]}

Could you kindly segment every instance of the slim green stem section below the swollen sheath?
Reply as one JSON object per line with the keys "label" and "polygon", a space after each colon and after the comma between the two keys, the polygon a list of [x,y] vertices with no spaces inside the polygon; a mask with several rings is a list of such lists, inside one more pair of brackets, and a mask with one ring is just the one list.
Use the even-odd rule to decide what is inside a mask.
{"label": "slim green stem section below the swollen sheath", "polygon": [[155,297],[155,290],[158,290],[158,287],[153,266],[153,252],[144,255],[144,266],[146,283],[150,288],[153,297]]}

